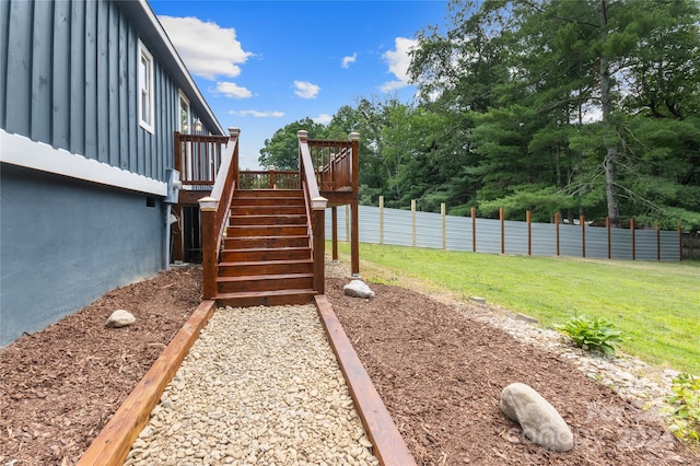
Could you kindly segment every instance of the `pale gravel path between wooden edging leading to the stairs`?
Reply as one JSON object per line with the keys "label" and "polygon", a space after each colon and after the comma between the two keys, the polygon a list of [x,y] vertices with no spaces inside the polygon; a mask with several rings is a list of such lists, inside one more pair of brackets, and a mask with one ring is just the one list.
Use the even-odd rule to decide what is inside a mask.
{"label": "pale gravel path between wooden edging leading to the stairs", "polygon": [[313,305],[219,308],[126,465],[378,465]]}

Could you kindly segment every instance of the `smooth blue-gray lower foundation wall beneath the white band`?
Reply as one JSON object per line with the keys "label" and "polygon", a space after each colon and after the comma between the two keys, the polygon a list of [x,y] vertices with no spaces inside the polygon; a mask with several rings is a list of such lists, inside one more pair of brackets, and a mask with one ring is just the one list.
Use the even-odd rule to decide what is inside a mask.
{"label": "smooth blue-gray lower foundation wall beneath the white band", "polygon": [[163,264],[163,208],[145,195],[3,165],[0,215],[1,346]]}

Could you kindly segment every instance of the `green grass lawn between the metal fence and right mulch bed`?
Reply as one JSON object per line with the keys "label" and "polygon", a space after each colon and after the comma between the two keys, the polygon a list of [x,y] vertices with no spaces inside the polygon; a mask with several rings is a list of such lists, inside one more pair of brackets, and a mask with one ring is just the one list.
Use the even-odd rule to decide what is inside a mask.
{"label": "green grass lawn between the metal fence and right mulch bed", "polygon": [[[346,256],[350,248],[339,244]],[[369,281],[407,280],[433,292],[481,296],[546,327],[585,314],[622,331],[619,349],[657,366],[700,374],[700,263],[500,256],[360,245]],[[406,284],[407,287],[410,287]]]}

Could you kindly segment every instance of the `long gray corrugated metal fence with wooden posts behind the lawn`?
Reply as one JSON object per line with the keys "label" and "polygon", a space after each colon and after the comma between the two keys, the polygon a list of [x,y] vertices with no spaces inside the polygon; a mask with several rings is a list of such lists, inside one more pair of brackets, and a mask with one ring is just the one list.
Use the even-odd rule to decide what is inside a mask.
{"label": "long gray corrugated metal fence with wooden posts behind the lawn", "polygon": [[[360,206],[360,242],[447,251],[622,260],[680,260],[677,231],[607,229],[453,217]],[[326,215],[326,237],[331,237]],[[350,237],[350,209],[338,208],[338,240]]]}

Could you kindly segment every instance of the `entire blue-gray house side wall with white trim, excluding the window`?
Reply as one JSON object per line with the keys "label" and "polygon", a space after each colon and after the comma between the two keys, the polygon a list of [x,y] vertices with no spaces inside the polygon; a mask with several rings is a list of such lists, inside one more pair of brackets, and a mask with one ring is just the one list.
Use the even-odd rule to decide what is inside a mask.
{"label": "entire blue-gray house side wall with white trim, excluding the window", "polygon": [[180,89],[222,133],[143,0],[0,0],[0,346],[163,268]]}

